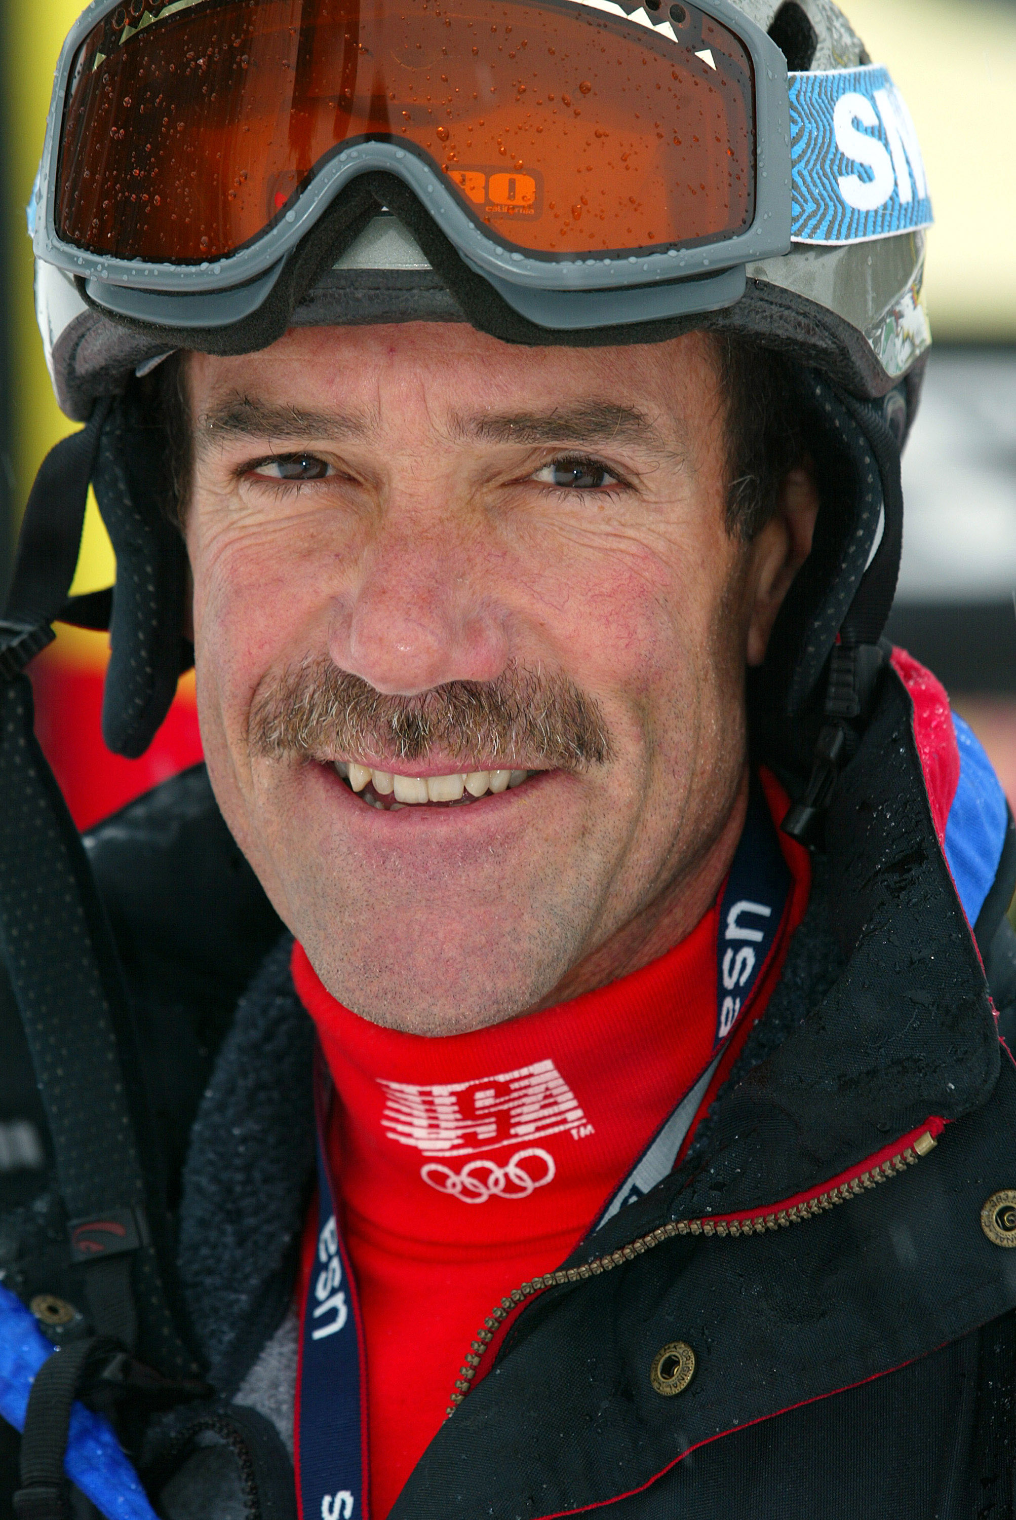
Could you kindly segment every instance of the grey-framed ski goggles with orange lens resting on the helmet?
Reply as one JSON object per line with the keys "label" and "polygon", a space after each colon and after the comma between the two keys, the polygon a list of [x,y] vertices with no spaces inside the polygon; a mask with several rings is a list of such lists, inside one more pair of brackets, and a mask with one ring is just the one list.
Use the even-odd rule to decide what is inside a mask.
{"label": "grey-framed ski goggles with orange lens resting on the helmet", "polygon": [[715,310],[790,248],[784,56],[727,0],[97,0],[36,254],[120,315],[228,325],[377,172],[544,325]]}

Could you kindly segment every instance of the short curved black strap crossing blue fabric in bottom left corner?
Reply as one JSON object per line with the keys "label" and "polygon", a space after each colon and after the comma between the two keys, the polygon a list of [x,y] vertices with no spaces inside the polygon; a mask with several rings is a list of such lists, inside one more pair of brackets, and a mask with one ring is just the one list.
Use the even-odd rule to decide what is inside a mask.
{"label": "short curved black strap crossing blue fabric in bottom left corner", "polygon": [[35,1374],[21,1433],[21,1488],[14,1496],[18,1520],[64,1520],[64,1456],[74,1395],[88,1373],[120,1350],[111,1336],[61,1347]]}

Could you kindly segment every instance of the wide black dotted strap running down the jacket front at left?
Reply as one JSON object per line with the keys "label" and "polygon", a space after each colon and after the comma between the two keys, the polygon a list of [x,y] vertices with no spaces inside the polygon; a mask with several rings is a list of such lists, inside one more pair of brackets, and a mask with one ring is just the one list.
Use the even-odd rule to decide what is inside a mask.
{"label": "wide black dotted strap running down the jacket front at left", "polygon": [[[33,734],[27,676],[0,684],[0,948],[46,1107],[61,1196],[71,1219],[131,1208],[161,1227],[155,1184],[146,1187],[132,1122],[146,1100],[132,1024],[99,894],[59,787]],[[132,1099],[132,1100],[131,1100]],[[102,1252],[97,1252],[100,1256]],[[167,1246],[169,1259],[169,1246]],[[120,1256],[141,1319],[146,1362],[167,1376],[197,1371],[166,1300],[155,1246],[143,1239]],[[111,1263],[96,1260],[105,1275]],[[128,1272],[114,1274],[126,1286]],[[114,1281],[88,1290],[97,1330],[131,1344],[129,1310],[114,1307]]]}

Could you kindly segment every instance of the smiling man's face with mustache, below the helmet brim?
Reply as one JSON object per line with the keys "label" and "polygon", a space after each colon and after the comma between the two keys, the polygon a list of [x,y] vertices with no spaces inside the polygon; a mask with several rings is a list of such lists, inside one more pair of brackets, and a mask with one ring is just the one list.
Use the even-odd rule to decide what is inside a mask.
{"label": "smiling man's face with mustache, below the helmet brim", "polygon": [[709,340],[304,328],[187,378],[208,769],[325,986],[446,1034],[691,929],[767,632]]}

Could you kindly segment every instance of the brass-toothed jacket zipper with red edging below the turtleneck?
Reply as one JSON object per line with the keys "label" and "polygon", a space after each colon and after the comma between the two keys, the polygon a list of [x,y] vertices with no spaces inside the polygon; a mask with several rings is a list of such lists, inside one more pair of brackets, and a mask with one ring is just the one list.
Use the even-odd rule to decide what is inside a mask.
{"label": "brass-toothed jacket zipper with red edging below the turtleneck", "polygon": [[500,1304],[495,1304],[475,1338],[469,1342],[469,1351],[456,1379],[445,1418],[456,1412],[469,1392],[480,1363],[504,1321],[529,1298],[535,1298],[536,1294],[542,1294],[548,1287],[560,1287],[563,1283],[582,1283],[589,1277],[600,1277],[601,1272],[611,1272],[615,1266],[623,1266],[624,1262],[633,1262],[636,1256],[644,1256],[653,1246],[662,1245],[664,1240],[673,1240],[677,1236],[720,1236],[723,1239],[734,1236],[737,1239],[746,1234],[765,1234],[767,1230],[785,1230],[788,1225],[799,1225],[805,1219],[814,1219],[816,1214],[822,1214],[837,1204],[844,1204],[849,1198],[860,1198],[861,1193],[878,1187],[879,1183],[887,1183],[890,1176],[905,1172],[908,1166],[916,1166],[922,1157],[934,1149],[937,1137],[943,1129],[945,1120],[928,1119],[926,1123],[917,1129],[911,1129],[910,1134],[904,1135],[895,1145],[885,1146],[884,1151],[876,1151],[867,1161],[861,1161],[860,1166],[841,1172],[831,1183],[825,1183],[811,1192],[799,1193],[784,1204],[775,1204],[771,1208],[749,1208],[738,1214],[679,1219],[661,1225],[658,1230],[650,1230],[648,1234],[639,1236],[638,1240],[632,1240],[618,1251],[598,1256],[582,1266],[560,1268],[556,1272],[547,1272],[544,1277],[535,1277],[532,1283],[522,1283],[521,1287],[513,1289],[513,1292],[503,1298]]}

